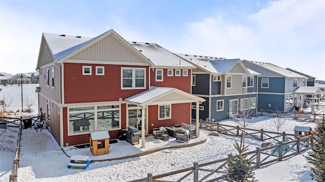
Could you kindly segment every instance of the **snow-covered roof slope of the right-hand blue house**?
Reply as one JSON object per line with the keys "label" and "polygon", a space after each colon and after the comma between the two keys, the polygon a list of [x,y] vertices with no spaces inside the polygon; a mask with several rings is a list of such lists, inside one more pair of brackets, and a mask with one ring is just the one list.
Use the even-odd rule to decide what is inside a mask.
{"label": "snow-covered roof slope of the right-hand blue house", "polygon": [[[285,69],[283,67],[277,66],[275,64],[272,63],[268,63],[268,62],[260,62],[260,61],[250,61],[250,60],[244,60],[253,64],[256,64],[258,66],[264,67],[265,69],[269,69],[273,72],[276,72],[280,75],[283,75],[284,77],[289,77],[289,78],[305,78],[305,76],[297,74],[294,71],[290,71],[288,69]],[[263,76],[263,74],[262,74]]]}

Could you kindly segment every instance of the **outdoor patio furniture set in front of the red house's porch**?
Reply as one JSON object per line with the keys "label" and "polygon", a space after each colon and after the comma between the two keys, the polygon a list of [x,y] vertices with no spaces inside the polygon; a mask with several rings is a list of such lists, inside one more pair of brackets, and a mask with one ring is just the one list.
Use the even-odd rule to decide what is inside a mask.
{"label": "outdoor patio furniture set in front of the red house's porch", "polygon": [[171,136],[178,142],[188,142],[190,138],[196,137],[196,128],[182,123],[181,125],[154,128],[152,134],[155,138],[164,141],[168,141]]}

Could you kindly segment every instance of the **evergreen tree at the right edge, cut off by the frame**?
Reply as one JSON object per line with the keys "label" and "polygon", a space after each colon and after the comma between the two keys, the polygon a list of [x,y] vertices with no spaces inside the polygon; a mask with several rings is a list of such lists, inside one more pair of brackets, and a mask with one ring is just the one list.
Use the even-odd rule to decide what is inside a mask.
{"label": "evergreen tree at the right edge, cut off by the frame", "polygon": [[310,175],[316,181],[325,180],[325,119],[318,122],[315,127],[315,140],[311,150],[307,152],[309,156],[304,156],[312,165],[313,171]]}

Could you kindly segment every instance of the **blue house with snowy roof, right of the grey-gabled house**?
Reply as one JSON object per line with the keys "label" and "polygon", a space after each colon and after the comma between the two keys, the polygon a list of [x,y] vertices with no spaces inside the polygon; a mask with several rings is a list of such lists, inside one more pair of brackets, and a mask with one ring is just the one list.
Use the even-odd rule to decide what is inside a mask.
{"label": "blue house with snowy roof, right of the grey-gabled house", "polygon": [[304,105],[304,95],[295,95],[295,91],[305,86],[306,76],[272,63],[249,60],[243,60],[243,63],[261,74],[257,83],[258,110],[290,112],[294,106]]}

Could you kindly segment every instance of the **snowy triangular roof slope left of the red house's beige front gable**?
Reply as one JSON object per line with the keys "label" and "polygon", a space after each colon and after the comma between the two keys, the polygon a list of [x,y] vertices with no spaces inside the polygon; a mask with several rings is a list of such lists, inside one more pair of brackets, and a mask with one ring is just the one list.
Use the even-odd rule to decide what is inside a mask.
{"label": "snowy triangular roof slope left of the red house's beige front gable", "polygon": [[63,58],[92,40],[89,37],[75,35],[55,33],[43,33],[43,35],[55,60]]}

